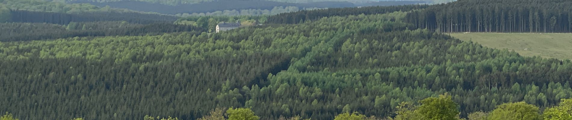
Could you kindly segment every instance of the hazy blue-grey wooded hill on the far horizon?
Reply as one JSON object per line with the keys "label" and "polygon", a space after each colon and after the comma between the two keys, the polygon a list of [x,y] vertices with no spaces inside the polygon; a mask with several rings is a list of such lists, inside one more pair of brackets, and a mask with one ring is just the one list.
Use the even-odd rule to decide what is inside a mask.
{"label": "hazy blue-grey wooded hill on the far horizon", "polygon": [[199,4],[186,4],[178,6],[163,5],[160,3],[138,2],[138,1],[120,1],[120,2],[93,2],[93,1],[72,1],[69,3],[90,3],[96,6],[110,6],[114,8],[130,9],[136,11],[149,11],[162,14],[179,14],[179,13],[206,13],[223,10],[244,10],[244,9],[268,9],[271,10],[275,6],[296,6],[296,7],[319,7],[319,8],[335,8],[335,7],[355,7],[350,2],[312,2],[312,3],[285,3],[272,1],[213,1]]}

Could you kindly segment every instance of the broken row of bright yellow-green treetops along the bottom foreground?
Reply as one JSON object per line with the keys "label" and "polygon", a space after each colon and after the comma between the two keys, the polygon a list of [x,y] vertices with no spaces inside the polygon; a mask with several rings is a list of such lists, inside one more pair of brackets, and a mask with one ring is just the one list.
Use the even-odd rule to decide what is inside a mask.
{"label": "broken row of bright yellow-green treetops along the bottom foreground", "polygon": [[[397,110],[392,112],[395,117],[380,118],[375,116],[366,117],[359,112],[341,113],[336,115],[333,120],[407,120],[407,119],[440,119],[440,120],[499,120],[499,119],[530,119],[530,120],[555,120],[555,119],[572,119],[570,108],[572,107],[572,99],[562,99],[558,106],[545,109],[542,113],[539,107],[526,104],[525,102],[505,103],[496,106],[496,109],[490,112],[477,111],[468,115],[467,118],[459,117],[458,104],[451,100],[448,94],[439,95],[439,97],[429,97],[419,101],[421,105],[414,105],[411,102],[402,102],[396,106]],[[18,120],[13,114],[6,113],[2,120]],[[144,120],[178,120],[177,117],[151,117],[145,115]],[[251,108],[230,108],[230,109],[213,109],[209,115],[205,115],[197,120],[259,120]],[[279,120],[300,120],[300,116],[291,118],[281,117]],[[83,118],[74,118],[72,120],[84,120]],[[310,119],[304,119],[310,120]]]}

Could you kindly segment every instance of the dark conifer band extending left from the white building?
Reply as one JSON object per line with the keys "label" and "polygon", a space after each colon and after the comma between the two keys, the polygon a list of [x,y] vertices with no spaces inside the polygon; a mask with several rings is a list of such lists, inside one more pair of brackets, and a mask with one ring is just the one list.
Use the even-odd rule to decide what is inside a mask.
{"label": "dark conifer band extending left from the white building", "polygon": [[127,22],[71,22],[67,26],[46,23],[0,23],[0,41],[27,41],[82,36],[142,36],[164,32],[198,35],[206,29],[172,23],[130,24]]}

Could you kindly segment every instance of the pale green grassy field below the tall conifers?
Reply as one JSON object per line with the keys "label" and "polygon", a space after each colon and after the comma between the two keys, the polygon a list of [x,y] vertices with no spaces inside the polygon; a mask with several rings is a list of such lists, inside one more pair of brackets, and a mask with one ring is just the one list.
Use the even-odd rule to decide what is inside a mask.
{"label": "pale green grassy field below the tall conifers", "polygon": [[572,34],[458,33],[451,36],[490,48],[507,48],[522,56],[572,59]]}

